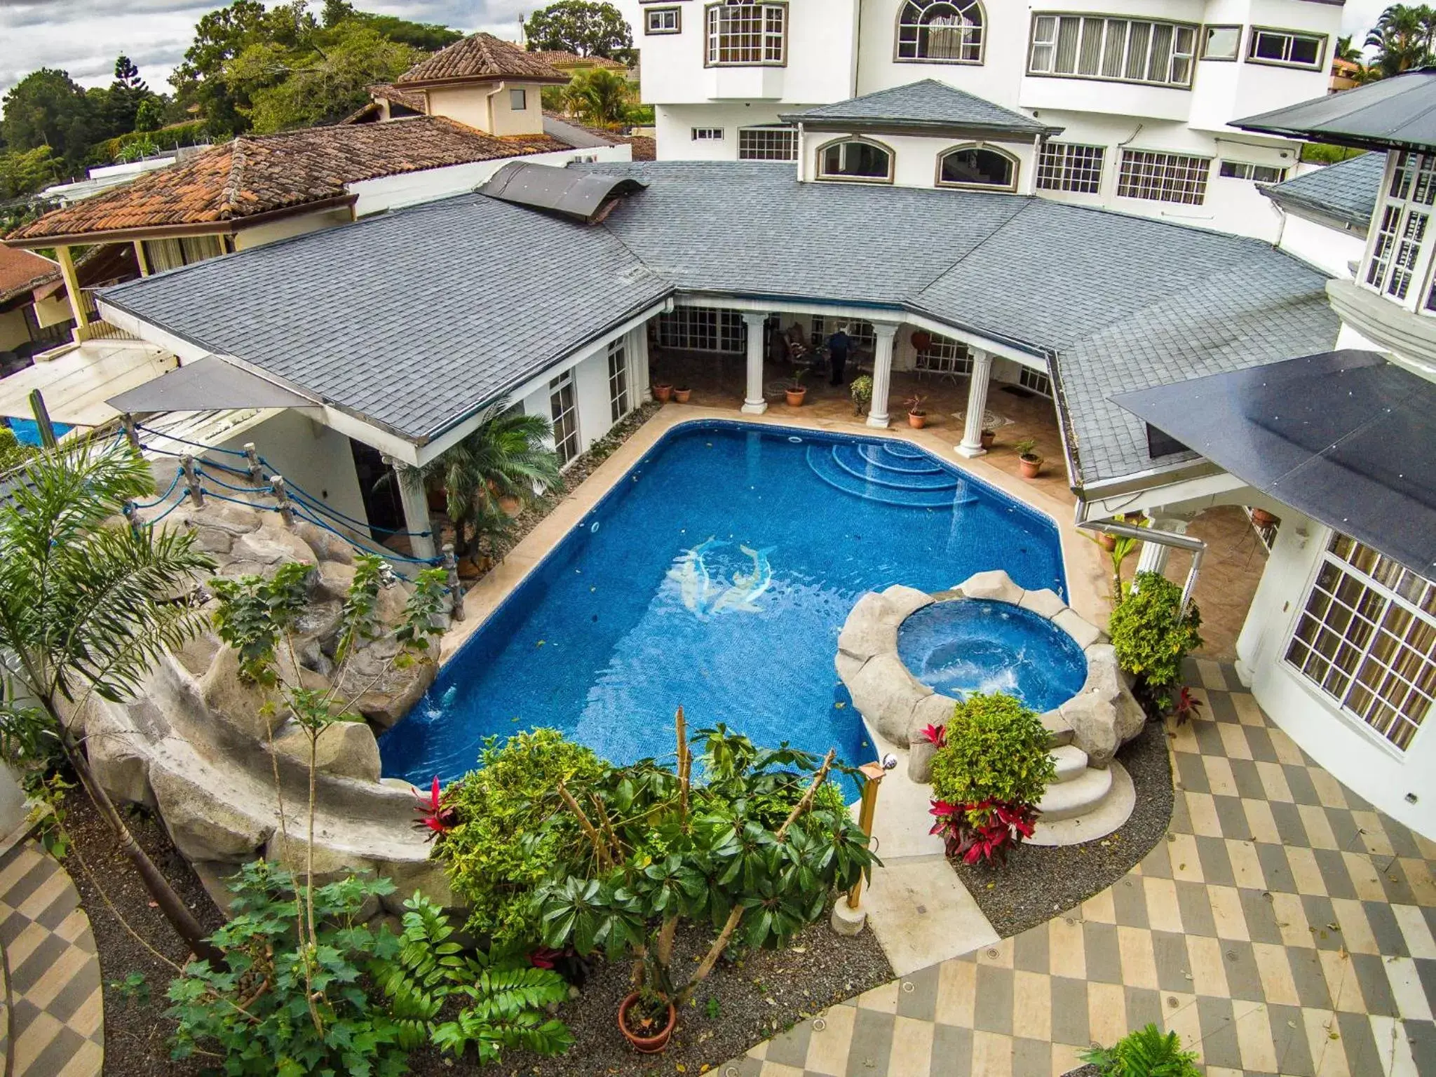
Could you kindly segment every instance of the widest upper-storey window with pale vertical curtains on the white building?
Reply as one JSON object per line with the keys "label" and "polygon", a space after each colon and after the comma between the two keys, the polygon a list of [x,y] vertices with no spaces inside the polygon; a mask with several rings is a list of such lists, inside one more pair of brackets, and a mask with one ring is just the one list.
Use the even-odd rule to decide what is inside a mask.
{"label": "widest upper-storey window with pale vertical curtains on the white building", "polygon": [[1091,14],[1037,14],[1028,75],[1192,85],[1196,26]]}

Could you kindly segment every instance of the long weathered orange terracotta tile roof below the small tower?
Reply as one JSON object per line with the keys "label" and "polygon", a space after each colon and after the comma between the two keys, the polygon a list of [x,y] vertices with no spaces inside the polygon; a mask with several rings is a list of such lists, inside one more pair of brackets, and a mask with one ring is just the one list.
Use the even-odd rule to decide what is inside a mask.
{"label": "long weathered orange terracotta tile roof below the small tower", "polygon": [[569,148],[549,135],[495,138],[442,116],[241,136],[47,213],[6,238],[223,224],[342,198],[346,184],[360,180]]}

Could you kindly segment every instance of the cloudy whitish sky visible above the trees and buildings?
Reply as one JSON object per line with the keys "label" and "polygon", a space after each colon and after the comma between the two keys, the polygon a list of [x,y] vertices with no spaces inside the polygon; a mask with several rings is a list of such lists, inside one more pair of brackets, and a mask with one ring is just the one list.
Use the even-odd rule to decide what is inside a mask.
{"label": "cloudy whitish sky visible above the trees and buildings", "polygon": [[[368,0],[365,10],[460,30],[517,37],[520,13],[544,0]],[[1347,0],[1344,32],[1366,34],[1387,0]],[[85,86],[106,85],[125,53],[154,89],[168,89],[200,16],[215,0],[0,0],[0,92],[36,67],[62,67]],[[314,7],[317,9],[319,0]],[[638,0],[619,0],[630,19]]]}

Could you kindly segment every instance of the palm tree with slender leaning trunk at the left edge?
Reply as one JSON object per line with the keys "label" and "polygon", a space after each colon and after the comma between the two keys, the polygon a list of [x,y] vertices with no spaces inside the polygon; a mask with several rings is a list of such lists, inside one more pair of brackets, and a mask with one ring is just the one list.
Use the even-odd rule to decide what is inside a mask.
{"label": "palm tree with slender leaning trunk at the left edge", "polygon": [[0,505],[0,653],[11,676],[0,725],[59,742],[155,905],[197,955],[218,956],[129,833],[59,709],[65,701],[82,712],[92,692],[132,698],[151,665],[205,623],[178,595],[214,561],[192,536],[113,524],[125,501],[154,493],[149,467],[126,445],[49,449],[14,478]]}

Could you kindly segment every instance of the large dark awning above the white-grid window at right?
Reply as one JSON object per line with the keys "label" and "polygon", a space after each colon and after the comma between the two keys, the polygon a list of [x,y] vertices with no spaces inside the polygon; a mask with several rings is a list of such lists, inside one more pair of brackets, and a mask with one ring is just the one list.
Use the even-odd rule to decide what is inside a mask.
{"label": "large dark awning above the white-grid window at right", "polygon": [[1436,383],[1323,352],[1111,401],[1300,513],[1436,577]]}

